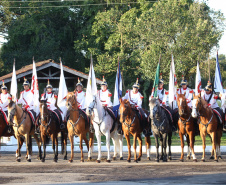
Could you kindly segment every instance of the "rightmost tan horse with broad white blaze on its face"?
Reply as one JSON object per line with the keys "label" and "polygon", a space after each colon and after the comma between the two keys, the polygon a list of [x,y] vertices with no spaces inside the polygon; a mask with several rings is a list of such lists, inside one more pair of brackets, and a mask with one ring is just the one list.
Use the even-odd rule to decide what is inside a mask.
{"label": "rightmost tan horse with broad white blaze on its face", "polygon": [[218,125],[216,115],[213,110],[208,107],[207,102],[201,97],[201,93],[194,96],[192,106],[192,117],[200,117],[199,130],[203,147],[202,161],[205,161],[206,135],[209,134],[212,140],[214,161],[218,162],[218,154],[220,152],[220,142],[223,130],[222,125]]}

